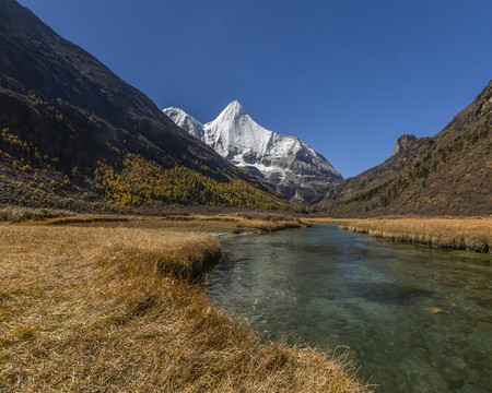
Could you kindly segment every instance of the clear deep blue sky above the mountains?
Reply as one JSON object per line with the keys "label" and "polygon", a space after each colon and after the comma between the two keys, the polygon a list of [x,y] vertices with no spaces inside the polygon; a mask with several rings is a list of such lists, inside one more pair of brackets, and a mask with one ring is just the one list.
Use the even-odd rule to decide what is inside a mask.
{"label": "clear deep blue sky above the mountains", "polygon": [[344,177],[444,128],[492,79],[490,0],[21,0],[160,108],[238,99]]}

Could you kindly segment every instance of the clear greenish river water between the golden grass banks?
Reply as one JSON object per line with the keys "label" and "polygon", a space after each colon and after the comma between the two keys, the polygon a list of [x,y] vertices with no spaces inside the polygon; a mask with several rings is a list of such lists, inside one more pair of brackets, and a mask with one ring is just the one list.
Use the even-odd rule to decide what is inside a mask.
{"label": "clear greenish river water between the golden grass banks", "polygon": [[491,392],[492,269],[336,226],[224,240],[207,290],[274,341],[347,345],[376,392]]}

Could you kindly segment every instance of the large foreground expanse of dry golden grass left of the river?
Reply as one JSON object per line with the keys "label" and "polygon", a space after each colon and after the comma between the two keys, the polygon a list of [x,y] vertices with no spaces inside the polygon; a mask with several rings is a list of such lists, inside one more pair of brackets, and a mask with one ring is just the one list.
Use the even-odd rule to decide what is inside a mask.
{"label": "large foreground expanse of dry golden grass left of the river", "polygon": [[1,392],[367,391],[338,358],[261,343],[185,279],[216,258],[210,237],[2,225],[0,245]]}

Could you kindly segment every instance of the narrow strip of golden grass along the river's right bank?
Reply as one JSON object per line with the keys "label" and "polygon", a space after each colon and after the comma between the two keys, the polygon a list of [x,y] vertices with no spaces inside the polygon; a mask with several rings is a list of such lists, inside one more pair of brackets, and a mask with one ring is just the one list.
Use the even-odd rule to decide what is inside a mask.
{"label": "narrow strip of golden grass along the river's right bank", "polygon": [[430,247],[492,253],[492,218],[314,218],[339,229]]}

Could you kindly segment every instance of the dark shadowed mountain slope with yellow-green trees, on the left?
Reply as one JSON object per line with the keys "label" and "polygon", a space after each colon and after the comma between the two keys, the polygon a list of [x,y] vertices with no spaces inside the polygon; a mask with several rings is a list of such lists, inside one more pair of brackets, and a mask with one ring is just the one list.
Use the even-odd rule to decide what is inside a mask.
{"label": "dark shadowed mountain slope with yellow-green trees, on the left", "polygon": [[[14,188],[36,204],[42,201],[31,198],[38,189],[26,187],[33,181],[45,188],[55,182],[47,198],[55,192],[126,204],[285,205],[14,0],[0,0],[0,203],[15,202],[19,192],[4,191],[15,180]],[[168,172],[181,169],[186,176]],[[136,170],[142,170],[147,188],[128,175]],[[232,183],[247,201],[232,200]],[[169,184],[181,191],[169,193],[176,188]]]}

